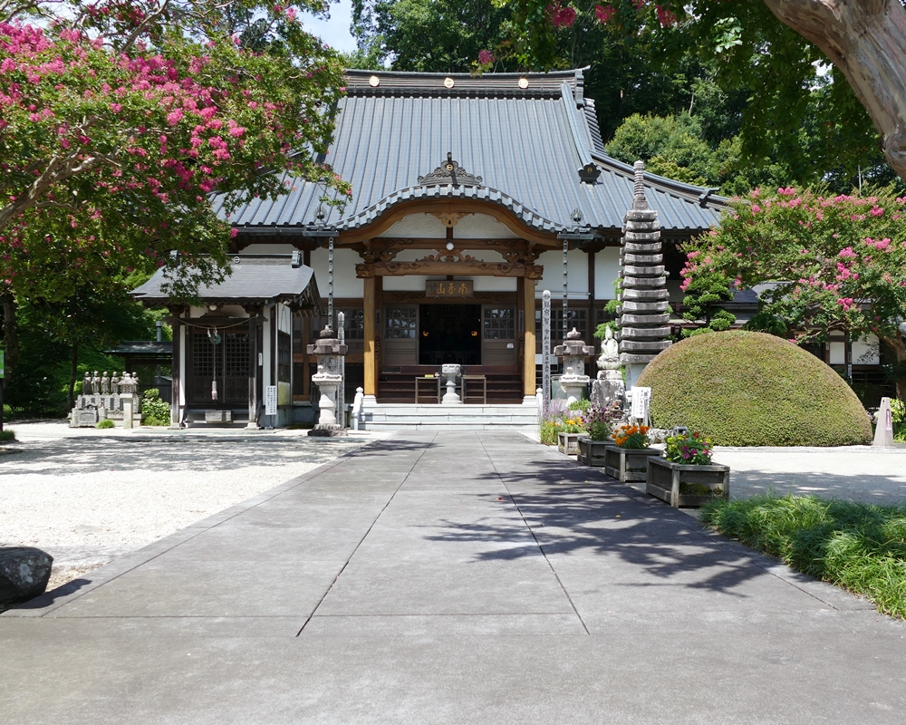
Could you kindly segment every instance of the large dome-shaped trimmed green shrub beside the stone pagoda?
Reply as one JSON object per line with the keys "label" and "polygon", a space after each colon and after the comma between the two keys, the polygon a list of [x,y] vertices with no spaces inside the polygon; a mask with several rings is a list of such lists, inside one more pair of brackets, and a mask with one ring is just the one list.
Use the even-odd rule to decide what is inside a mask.
{"label": "large dome-shaped trimmed green shrub beside the stone pagoda", "polygon": [[685,425],[723,446],[870,443],[872,425],[853,390],[813,354],[774,335],[695,335],[641,373],[651,421]]}

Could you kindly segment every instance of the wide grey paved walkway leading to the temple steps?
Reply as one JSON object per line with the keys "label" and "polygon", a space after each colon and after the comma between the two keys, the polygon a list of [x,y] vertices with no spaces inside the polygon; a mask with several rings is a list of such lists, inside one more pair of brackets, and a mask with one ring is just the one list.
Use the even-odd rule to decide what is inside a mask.
{"label": "wide grey paved walkway leading to the temple steps", "polygon": [[0,616],[0,720],[901,723],[904,637],[516,433],[398,434]]}

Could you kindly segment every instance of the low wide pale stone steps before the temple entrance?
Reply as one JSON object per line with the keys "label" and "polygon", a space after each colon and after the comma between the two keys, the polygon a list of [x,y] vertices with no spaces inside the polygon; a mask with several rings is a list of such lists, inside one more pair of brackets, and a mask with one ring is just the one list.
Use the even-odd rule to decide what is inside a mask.
{"label": "low wide pale stone steps before the temple entrance", "polygon": [[538,429],[535,405],[366,404],[365,430],[522,430]]}

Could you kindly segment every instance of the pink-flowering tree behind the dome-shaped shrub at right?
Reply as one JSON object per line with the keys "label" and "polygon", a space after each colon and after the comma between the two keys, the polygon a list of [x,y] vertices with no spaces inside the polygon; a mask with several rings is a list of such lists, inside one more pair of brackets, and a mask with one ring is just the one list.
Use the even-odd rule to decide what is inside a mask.
{"label": "pink-flowering tree behind the dome-shaped shrub at right", "polygon": [[[722,281],[726,292],[768,285],[759,319],[796,343],[832,330],[876,334],[906,365],[906,197],[753,191],[720,226],[683,247],[682,287]],[[906,397],[906,375],[897,374]]]}

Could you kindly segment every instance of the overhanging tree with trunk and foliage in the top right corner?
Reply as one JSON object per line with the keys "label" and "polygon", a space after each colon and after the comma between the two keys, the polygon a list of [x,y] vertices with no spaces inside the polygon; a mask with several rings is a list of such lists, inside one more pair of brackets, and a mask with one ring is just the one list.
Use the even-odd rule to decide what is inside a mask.
{"label": "overhanging tree with trunk and foliage in the top right corner", "polygon": [[[753,159],[777,150],[778,140],[796,155],[808,90],[831,63],[828,132],[838,126],[834,132],[843,130],[853,148],[864,149],[866,142],[878,142],[871,138],[877,131],[884,159],[906,180],[904,0],[497,2],[510,9],[512,19],[496,54],[528,68],[564,65],[563,35],[579,14],[609,27],[626,47],[641,44],[673,62],[683,53],[698,54],[716,69],[719,83],[752,91],[743,140]],[[475,65],[479,71],[491,67],[480,58]]]}

